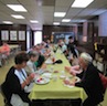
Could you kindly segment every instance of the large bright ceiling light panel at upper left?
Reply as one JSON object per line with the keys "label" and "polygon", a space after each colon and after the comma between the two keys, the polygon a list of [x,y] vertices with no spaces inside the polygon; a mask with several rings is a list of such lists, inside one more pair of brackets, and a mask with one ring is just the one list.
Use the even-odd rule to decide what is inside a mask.
{"label": "large bright ceiling light panel at upper left", "polygon": [[10,9],[18,12],[26,12],[26,9],[21,4],[7,4]]}

